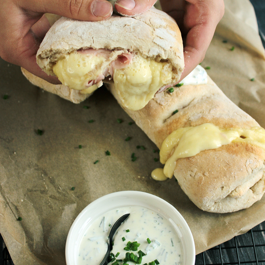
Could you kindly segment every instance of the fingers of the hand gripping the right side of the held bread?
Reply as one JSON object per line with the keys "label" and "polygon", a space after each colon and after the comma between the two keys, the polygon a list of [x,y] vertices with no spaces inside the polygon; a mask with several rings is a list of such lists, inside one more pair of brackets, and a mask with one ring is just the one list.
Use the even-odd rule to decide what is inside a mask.
{"label": "fingers of the hand gripping the right side of the held bread", "polygon": [[223,0],[160,0],[162,10],[173,17],[184,44],[185,68],[179,81],[203,61],[215,28],[225,12]]}

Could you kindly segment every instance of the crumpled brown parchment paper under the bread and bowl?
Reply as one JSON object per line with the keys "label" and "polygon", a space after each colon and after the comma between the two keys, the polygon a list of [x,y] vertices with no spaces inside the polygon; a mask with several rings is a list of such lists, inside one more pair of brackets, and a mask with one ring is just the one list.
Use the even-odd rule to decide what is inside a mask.
{"label": "crumpled brown parchment paper under the bread and bowl", "polygon": [[[210,66],[216,84],[265,127],[265,52],[254,11],[248,0],[225,4],[202,66]],[[196,253],[265,220],[265,196],[246,210],[208,213],[194,206],[175,179],[153,180],[151,171],[161,166],[154,161],[155,144],[128,124],[132,120],[105,88],[75,105],[31,85],[19,67],[1,59],[0,70],[0,233],[15,265],[65,265],[75,217],[117,191],[148,192],[174,205],[192,230]]]}

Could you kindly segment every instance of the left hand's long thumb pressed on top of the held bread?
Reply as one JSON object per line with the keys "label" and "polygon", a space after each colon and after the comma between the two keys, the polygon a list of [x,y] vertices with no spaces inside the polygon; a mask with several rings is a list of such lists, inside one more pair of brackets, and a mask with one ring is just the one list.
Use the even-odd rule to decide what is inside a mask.
{"label": "left hand's long thumb pressed on top of the held bread", "polygon": [[84,21],[106,19],[113,12],[107,0],[17,0],[17,5],[32,16],[35,13],[52,13]]}

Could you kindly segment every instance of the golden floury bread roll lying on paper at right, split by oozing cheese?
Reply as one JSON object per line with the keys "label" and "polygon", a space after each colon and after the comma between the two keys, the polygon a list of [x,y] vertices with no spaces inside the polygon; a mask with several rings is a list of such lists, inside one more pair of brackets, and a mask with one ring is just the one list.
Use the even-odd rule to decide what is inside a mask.
{"label": "golden floury bread roll lying on paper at right, split by oozing cheese", "polygon": [[[108,88],[119,102],[113,86],[108,85]],[[218,135],[223,137],[223,132],[238,131],[237,139],[230,143],[176,159],[172,163],[172,175],[174,173],[182,190],[204,211],[235,212],[262,198],[265,193],[265,130],[233,104],[210,77],[204,85],[184,85],[174,88],[172,93],[158,93],[141,110],[124,110],[159,147],[162,163],[177,150],[176,145],[169,149],[166,159],[162,158],[161,150],[168,147],[165,139],[180,144],[181,138],[169,138],[175,132],[212,126],[220,130]],[[257,132],[258,141],[250,141],[249,132]],[[209,141],[211,137],[209,135]],[[207,141],[207,136],[205,138]]]}

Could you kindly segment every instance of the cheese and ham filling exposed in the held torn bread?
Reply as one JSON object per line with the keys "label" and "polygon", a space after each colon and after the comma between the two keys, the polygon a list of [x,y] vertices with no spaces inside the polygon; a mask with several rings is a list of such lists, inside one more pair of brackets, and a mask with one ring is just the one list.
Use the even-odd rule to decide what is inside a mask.
{"label": "cheese and ham filling exposed in the held torn bread", "polygon": [[160,88],[170,87],[172,65],[127,51],[86,49],[67,54],[53,66],[63,85],[92,93],[113,80],[121,103],[130,110],[143,108]]}

